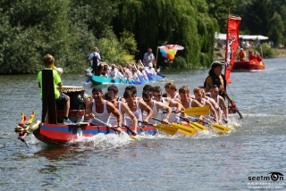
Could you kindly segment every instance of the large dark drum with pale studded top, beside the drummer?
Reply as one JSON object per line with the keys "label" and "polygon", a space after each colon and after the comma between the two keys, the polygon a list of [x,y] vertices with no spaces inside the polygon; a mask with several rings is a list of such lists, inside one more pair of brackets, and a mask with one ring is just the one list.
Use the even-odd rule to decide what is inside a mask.
{"label": "large dark drum with pale studded top, beside the drummer", "polygon": [[[59,88],[60,92],[70,96],[69,119],[75,123],[80,122],[85,114],[84,91],[83,87],[63,86]],[[63,122],[63,105],[56,108],[57,122]]]}

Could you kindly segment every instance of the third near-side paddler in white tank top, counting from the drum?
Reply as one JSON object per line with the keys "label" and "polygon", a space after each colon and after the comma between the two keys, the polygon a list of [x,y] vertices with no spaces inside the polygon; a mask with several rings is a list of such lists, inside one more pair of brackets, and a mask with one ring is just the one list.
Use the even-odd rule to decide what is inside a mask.
{"label": "third near-side paddler in white tank top, counting from the drum", "polygon": [[[150,120],[150,118],[153,115],[152,109],[149,106],[147,106],[147,104],[137,99],[136,94],[134,94],[134,91],[125,90],[123,97],[126,100],[126,104],[130,108],[130,111],[133,112],[135,117],[139,121],[142,121],[144,125],[147,125],[148,120]],[[144,120],[142,119],[143,111],[147,112],[147,116]],[[128,118],[126,119],[126,125],[134,126],[133,121]]]}

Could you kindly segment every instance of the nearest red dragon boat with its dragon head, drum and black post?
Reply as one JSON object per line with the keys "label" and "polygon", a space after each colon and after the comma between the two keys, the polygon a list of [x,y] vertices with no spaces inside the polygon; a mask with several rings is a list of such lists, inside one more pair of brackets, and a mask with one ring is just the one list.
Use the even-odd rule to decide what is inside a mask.
{"label": "nearest red dragon boat with its dragon head, drum and black post", "polygon": [[[43,70],[42,86],[43,86],[43,105],[42,105],[42,118],[41,120],[35,119],[35,112],[29,117],[21,113],[21,122],[16,126],[14,132],[18,133],[18,138],[24,141],[24,138],[33,134],[38,140],[49,145],[65,145],[71,140],[84,140],[84,137],[92,137],[99,133],[109,134],[114,133],[116,130],[112,127],[107,127],[105,124],[102,126],[89,126],[88,122],[81,122],[80,120],[85,114],[84,109],[84,88],[83,87],[62,87],[59,90],[70,96],[70,111],[69,119],[75,122],[74,125],[63,124],[63,108],[55,109],[55,90],[53,71]],[[122,127],[122,130],[128,134],[131,133],[133,127]],[[138,132],[154,135],[156,128],[153,126],[138,128]]]}

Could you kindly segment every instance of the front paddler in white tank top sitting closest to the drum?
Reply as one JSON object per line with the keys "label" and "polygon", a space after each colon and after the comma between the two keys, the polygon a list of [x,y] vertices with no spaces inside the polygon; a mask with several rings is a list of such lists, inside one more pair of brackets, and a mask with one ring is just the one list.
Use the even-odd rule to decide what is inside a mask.
{"label": "front paddler in white tank top sitting closest to the drum", "polygon": [[118,133],[122,132],[122,115],[114,104],[107,102],[103,98],[102,89],[100,87],[94,87],[92,89],[92,97],[94,100],[87,105],[85,120],[88,120],[90,125],[94,126],[105,126],[105,124],[97,121],[101,120],[107,123],[110,113],[117,118],[117,128]]}

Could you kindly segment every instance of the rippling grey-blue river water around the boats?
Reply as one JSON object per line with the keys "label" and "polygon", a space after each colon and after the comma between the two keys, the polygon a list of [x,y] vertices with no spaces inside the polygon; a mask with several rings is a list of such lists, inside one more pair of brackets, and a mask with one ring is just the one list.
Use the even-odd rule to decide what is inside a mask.
{"label": "rippling grey-blue river water around the boats", "polygon": [[[231,124],[238,127],[226,135],[139,136],[139,141],[97,135],[88,144],[65,146],[29,136],[29,148],[13,129],[21,112],[29,116],[35,111],[40,120],[37,75],[0,76],[0,190],[285,189],[286,180],[249,180],[270,172],[286,176],[285,62],[268,59],[265,71],[231,72],[227,89],[244,118],[232,114]],[[163,81],[152,84],[202,86],[207,71],[166,71]],[[64,85],[83,86],[91,94],[84,74],[63,73],[62,79]],[[118,87],[122,95],[126,86]]]}

